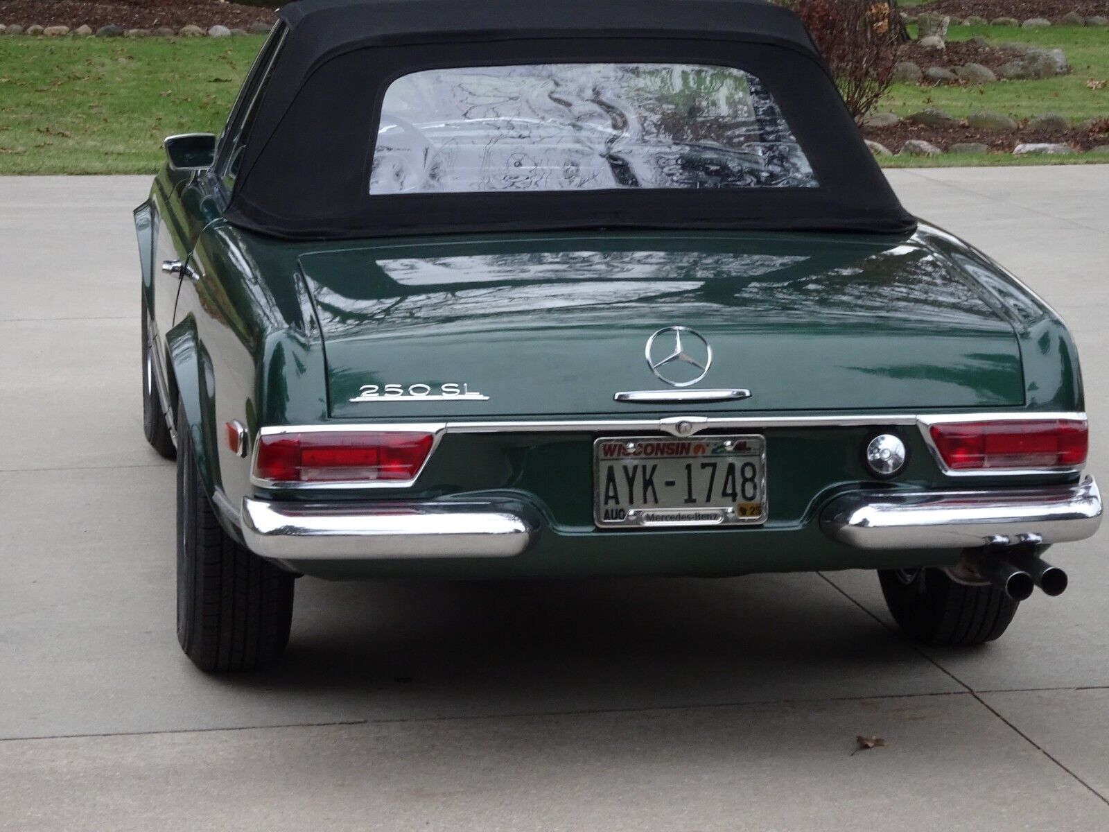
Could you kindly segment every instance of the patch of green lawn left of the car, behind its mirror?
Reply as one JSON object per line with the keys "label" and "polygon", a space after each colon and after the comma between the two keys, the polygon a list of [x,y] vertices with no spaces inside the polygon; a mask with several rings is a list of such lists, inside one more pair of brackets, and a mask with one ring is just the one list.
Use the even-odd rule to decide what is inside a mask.
{"label": "patch of green lawn left of the car, behind its mirror", "polygon": [[263,39],[0,37],[0,174],[153,172],[220,130]]}

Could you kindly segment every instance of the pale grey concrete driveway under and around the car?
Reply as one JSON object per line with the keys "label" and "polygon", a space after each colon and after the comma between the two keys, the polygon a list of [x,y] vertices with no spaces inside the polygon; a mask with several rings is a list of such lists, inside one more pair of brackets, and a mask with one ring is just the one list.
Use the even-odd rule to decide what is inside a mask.
{"label": "pale grey concrete driveway under and around the car", "polygon": [[[1109,481],[1109,168],[891,177],[1070,323]],[[278,668],[195,671],[142,438],[146,185],[0,180],[0,829],[1109,829],[1105,535],[977,650],[903,640],[862,572],[305,579]]]}

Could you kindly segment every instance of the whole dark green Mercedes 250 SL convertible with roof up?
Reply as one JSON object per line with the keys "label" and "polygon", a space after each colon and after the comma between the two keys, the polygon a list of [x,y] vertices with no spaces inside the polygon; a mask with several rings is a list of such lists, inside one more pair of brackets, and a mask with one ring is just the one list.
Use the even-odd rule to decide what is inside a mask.
{"label": "whole dark green Mercedes 250 SL convertible with roof up", "polygon": [[1095,534],[1059,317],[918,222],[759,0],[298,0],[135,211],[177,635],[295,580],[874,569],[1001,635]]}

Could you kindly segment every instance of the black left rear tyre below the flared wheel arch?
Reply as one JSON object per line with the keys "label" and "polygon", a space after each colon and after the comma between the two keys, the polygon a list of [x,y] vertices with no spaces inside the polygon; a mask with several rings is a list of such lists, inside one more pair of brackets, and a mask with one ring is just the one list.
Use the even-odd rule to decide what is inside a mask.
{"label": "black left rear tyre below the flared wheel arch", "polygon": [[[184,426],[179,406],[177,424]],[[254,670],[288,643],[293,575],[223,530],[196,468],[189,430],[177,435],[177,640],[201,670]]]}

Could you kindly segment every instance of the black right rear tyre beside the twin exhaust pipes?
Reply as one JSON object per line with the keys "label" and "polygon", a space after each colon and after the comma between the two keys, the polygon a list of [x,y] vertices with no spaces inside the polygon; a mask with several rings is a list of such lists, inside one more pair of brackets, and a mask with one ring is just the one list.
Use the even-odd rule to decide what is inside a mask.
{"label": "black right rear tyre beside the twin exhaust pipes", "polygon": [[993,641],[1020,606],[993,585],[959,584],[942,569],[879,569],[878,580],[894,620],[926,645]]}

